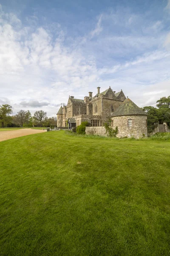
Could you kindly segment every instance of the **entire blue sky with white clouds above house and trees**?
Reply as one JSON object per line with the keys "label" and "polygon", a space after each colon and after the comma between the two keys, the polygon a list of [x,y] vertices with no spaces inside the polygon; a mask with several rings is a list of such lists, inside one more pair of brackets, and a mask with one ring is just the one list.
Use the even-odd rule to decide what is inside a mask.
{"label": "entire blue sky with white clouds above house and trees", "polygon": [[0,105],[55,116],[109,86],[139,107],[170,95],[170,0],[1,0]]}

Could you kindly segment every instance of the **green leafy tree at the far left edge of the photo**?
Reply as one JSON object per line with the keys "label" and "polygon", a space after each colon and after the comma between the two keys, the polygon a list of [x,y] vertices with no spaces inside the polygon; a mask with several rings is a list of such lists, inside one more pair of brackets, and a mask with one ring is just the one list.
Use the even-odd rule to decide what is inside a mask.
{"label": "green leafy tree at the far left edge of the photo", "polygon": [[7,125],[11,121],[12,107],[8,104],[0,106],[0,123],[1,126]]}

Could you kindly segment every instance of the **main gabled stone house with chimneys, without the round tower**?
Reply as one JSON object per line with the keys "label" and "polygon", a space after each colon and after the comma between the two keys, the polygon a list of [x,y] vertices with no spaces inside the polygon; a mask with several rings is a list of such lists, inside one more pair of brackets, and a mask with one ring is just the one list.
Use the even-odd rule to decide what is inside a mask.
{"label": "main gabled stone house with chimneys, without the round tower", "polygon": [[[122,90],[116,93],[109,87],[100,93],[100,87],[97,87],[97,93],[93,97],[93,93],[89,92],[89,96],[83,99],[74,99],[69,96],[67,105],[61,106],[57,113],[57,127],[71,127],[80,125],[84,121],[88,121],[91,126],[102,126],[111,118],[113,112],[126,99]],[[69,121],[71,120],[71,122]]]}

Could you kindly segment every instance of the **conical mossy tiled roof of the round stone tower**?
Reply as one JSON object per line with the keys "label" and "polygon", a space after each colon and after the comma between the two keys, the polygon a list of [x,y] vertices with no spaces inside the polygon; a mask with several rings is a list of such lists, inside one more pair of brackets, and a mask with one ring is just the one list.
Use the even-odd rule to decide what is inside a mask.
{"label": "conical mossy tiled roof of the round stone tower", "polygon": [[[116,109],[112,116],[130,116],[130,115],[142,115],[147,116],[147,113],[142,111],[134,102],[130,99],[125,99],[122,105]],[[111,117],[112,117],[111,116]]]}

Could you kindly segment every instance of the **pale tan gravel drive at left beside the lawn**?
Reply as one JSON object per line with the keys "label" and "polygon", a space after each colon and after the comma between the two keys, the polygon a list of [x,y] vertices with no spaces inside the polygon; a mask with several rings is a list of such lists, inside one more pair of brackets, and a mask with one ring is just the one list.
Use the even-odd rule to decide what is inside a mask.
{"label": "pale tan gravel drive at left beside the lawn", "polygon": [[0,131],[0,141],[22,137],[30,134],[46,132],[46,130],[19,129],[15,131]]}

